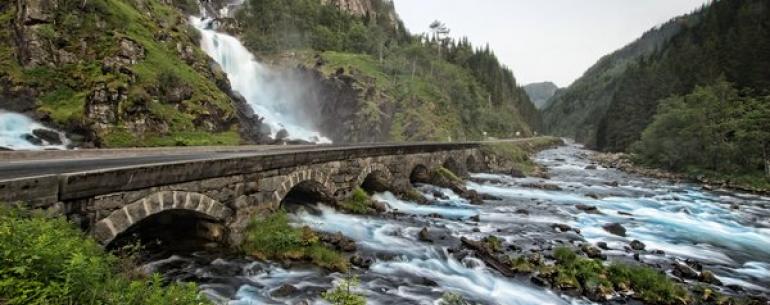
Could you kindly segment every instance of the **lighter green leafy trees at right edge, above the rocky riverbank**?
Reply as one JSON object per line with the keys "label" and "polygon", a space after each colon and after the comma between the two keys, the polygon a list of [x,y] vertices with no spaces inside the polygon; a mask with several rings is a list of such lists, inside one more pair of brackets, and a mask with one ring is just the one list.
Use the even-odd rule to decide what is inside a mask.
{"label": "lighter green leafy trees at right edge, above the rocky riverbank", "polygon": [[633,151],[646,165],[770,189],[770,96],[719,82],[666,99]]}

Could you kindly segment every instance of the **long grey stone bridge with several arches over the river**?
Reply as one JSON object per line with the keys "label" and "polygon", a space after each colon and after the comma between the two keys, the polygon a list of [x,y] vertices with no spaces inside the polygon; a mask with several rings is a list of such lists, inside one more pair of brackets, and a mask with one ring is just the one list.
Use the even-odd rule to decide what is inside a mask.
{"label": "long grey stone bridge with several arches over the river", "polygon": [[64,214],[104,245],[142,223],[175,217],[203,221],[217,228],[208,236],[237,244],[256,215],[278,210],[304,182],[343,200],[372,174],[404,186],[415,168],[479,170],[488,159],[480,147],[475,142],[314,146],[0,179],[0,201]]}

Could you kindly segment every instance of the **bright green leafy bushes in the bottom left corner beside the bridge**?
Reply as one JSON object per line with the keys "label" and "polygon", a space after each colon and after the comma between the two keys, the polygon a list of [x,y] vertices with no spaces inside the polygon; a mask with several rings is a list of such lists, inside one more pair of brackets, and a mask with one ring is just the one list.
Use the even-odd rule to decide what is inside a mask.
{"label": "bright green leafy bushes in the bottom left corner beside the bridge", "polygon": [[0,209],[0,303],[209,304],[194,284],[145,278],[62,218]]}

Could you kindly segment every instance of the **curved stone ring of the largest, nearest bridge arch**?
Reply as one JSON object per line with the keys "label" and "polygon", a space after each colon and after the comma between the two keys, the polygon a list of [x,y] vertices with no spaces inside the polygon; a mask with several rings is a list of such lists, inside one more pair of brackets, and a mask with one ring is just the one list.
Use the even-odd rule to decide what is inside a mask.
{"label": "curved stone ring of the largest, nearest bridge arch", "polygon": [[162,191],[113,211],[95,224],[93,235],[102,245],[109,246],[116,238],[161,215],[224,224],[233,211],[204,194]]}

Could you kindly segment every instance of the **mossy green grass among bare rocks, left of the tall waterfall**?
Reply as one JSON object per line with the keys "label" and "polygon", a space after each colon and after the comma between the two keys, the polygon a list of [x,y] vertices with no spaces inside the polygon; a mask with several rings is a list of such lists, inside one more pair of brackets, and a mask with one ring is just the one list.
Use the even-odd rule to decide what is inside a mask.
{"label": "mossy green grass among bare rocks, left of the tall waterfall", "polygon": [[[92,0],[85,10],[67,3],[60,4],[56,12],[57,25],[42,25],[38,33],[44,41],[55,41],[73,54],[80,53],[79,42],[85,41],[88,56],[72,64],[25,68],[17,62],[12,46],[0,44],[0,77],[5,74],[16,86],[35,88],[39,93],[39,113],[59,126],[87,126],[86,97],[96,84],[105,83],[108,88],[125,88],[128,92],[128,100],[119,105],[121,114],[134,103],[147,103],[151,116],[166,122],[169,132],[134,135],[118,123],[98,135],[104,146],[238,144],[240,139],[234,127],[209,133],[195,126],[194,120],[200,116],[216,114],[225,120],[235,114],[226,94],[178,55],[176,43],[191,43],[194,29],[185,25],[185,17],[176,9],[157,0]],[[9,6],[0,15],[0,23],[4,24],[0,38],[4,41],[12,41],[11,29],[5,25],[10,24],[15,10],[15,6]],[[161,32],[171,35],[171,39],[158,41],[155,35]],[[117,52],[120,37],[136,41],[146,49],[146,58],[130,66],[136,75],[135,83],[124,74],[101,72],[102,58]],[[195,52],[196,59],[205,63],[205,55],[197,48]],[[179,104],[160,101],[157,87],[162,74],[188,84],[192,98]]]}

